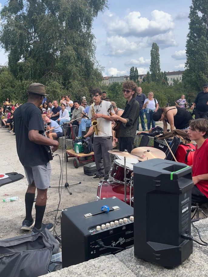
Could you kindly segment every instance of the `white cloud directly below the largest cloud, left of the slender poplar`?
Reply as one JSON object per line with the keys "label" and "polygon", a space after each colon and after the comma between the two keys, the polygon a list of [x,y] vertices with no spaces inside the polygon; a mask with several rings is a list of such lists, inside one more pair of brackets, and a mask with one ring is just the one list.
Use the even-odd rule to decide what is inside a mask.
{"label": "white cloud directly below the largest cloud, left of the slender poplar", "polygon": [[130,42],[121,36],[112,36],[106,39],[106,48],[109,50],[110,56],[130,55],[144,47],[143,41]]}

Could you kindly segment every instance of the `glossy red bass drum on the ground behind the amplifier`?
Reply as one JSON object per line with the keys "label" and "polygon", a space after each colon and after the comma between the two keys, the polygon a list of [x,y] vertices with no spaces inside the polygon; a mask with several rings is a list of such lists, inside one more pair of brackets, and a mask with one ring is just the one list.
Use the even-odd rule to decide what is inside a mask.
{"label": "glossy red bass drum on the ground behind the amplifier", "polygon": [[[97,200],[106,199],[110,197],[117,197],[118,199],[124,201],[124,185],[121,184],[110,184],[108,181],[101,181],[98,184]],[[134,193],[133,186],[126,186],[126,204],[134,206]]]}

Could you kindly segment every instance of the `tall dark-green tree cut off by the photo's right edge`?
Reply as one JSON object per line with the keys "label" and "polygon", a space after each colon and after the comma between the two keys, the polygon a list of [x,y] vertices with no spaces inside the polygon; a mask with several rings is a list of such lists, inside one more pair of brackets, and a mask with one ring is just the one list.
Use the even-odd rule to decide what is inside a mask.
{"label": "tall dark-green tree cut off by the photo's right edge", "polygon": [[192,0],[189,33],[186,41],[186,64],[183,82],[190,91],[199,91],[208,81],[208,5]]}

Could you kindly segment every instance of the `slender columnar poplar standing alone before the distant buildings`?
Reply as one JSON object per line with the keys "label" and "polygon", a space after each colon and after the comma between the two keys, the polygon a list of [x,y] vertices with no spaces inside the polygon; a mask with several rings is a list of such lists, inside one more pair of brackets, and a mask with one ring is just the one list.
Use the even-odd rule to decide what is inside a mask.
{"label": "slender columnar poplar standing alone before the distant buildings", "polygon": [[151,72],[152,81],[161,84],[162,78],[160,74],[159,46],[155,42],[153,42],[150,55],[151,63],[149,71]]}

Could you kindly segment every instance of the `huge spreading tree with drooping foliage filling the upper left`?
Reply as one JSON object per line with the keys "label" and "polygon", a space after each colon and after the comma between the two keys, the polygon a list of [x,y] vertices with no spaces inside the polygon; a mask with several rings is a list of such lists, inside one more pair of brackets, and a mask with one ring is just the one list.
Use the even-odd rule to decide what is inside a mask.
{"label": "huge spreading tree with drooping foliage filling the upper left", "polygon": [[[10,0],[1,10],[0,41],[20,81],[57,82],[82,94],[102,80],[92,23],[107,0]],[[55,84],[55,83],[50,83]]]}

